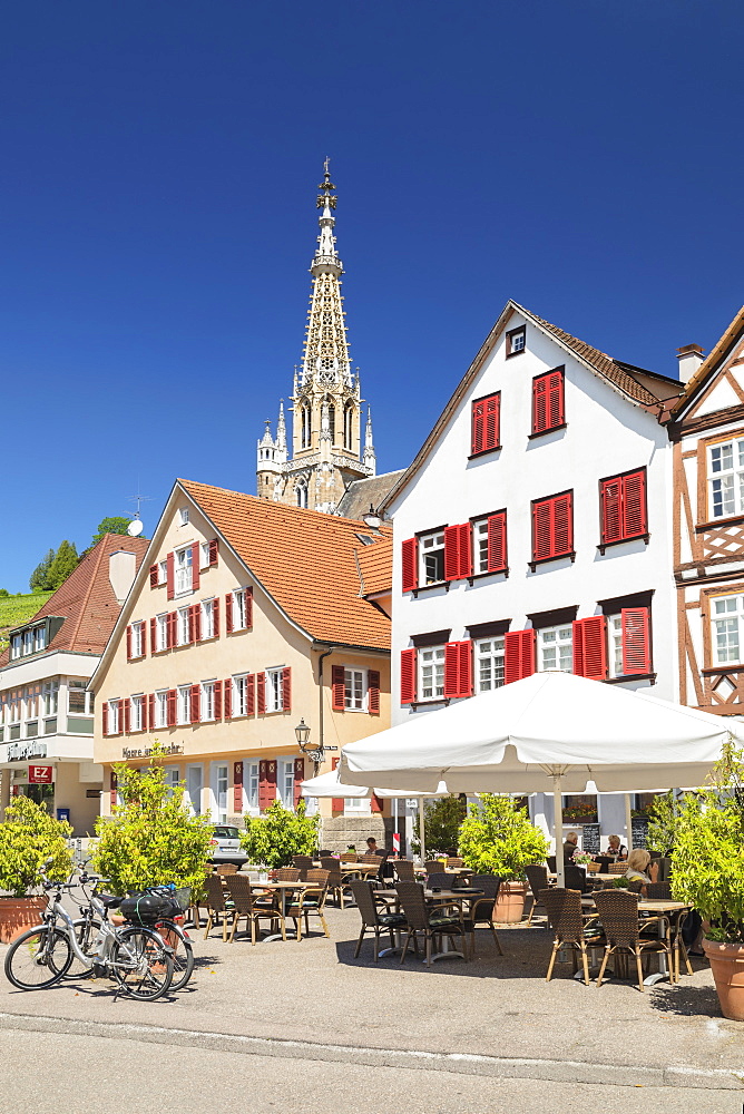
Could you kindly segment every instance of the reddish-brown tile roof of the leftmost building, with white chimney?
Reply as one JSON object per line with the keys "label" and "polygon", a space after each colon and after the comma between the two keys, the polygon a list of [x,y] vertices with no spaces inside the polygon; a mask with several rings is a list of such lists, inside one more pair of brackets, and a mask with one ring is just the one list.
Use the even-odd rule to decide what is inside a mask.
{"label": "reddish-brown tile roof of the leftmost building, with white chimney", "polygon": [[[126,549],[135,555],[136,567],[139,568],[148,546],[147,538],[106,534],[23,626],[47,615],[61,616],[65,622],[47,647],[47,653],[50,649],[69,649],[78,654],[102,654],[121,610],[108,578],[108,559],[119,549]],[[8,664],[9,655],[9,649],[0,654],[0,668]]]}

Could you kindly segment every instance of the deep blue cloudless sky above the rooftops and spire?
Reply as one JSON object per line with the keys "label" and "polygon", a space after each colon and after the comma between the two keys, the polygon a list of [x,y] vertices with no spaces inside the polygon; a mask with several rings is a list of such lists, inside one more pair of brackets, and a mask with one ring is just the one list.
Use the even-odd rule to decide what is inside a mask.
{"label": "deep blue cloudless sky above the rooftops and spire", "polygon": [[176,476],[253,491],[332,157],[405,466],[508,297],[676,374],[743,301],[744,9],[27,0],[0,21],[0,587]]}

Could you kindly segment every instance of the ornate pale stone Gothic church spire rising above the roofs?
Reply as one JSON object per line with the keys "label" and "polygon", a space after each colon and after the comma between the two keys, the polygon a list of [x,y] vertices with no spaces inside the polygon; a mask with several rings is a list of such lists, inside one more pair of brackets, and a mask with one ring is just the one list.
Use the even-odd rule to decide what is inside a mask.
{"label": "ornate pale stone Gothic church spire rising above the roofs", "polygon": [[271,422],[258,441],[257,495],[293,507],[333,514],[350,483],[375,475],[372,418],[368,408],[364,448],[359,371],[352,372],[344,324],[333,209],[336,198],[329,160],[320,185],[321,234],[313,276],[302,367],[294,372],[292,452],[287,455],[284,403],[276,438]]}

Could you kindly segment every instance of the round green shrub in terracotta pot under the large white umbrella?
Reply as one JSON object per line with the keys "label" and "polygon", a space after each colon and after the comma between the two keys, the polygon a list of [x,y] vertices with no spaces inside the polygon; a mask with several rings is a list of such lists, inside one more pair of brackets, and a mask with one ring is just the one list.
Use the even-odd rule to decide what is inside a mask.
{"label": "round green shrub in terracotta pot under the large white umbrella", "polygon": [[527,896],[525,867],[542,862],[547,853],[548,840],[511,798],[482,793],[479,803],[468,809],[460,828],[460,854],[476,873],[502,879],[495,921],[513,925],[521,920]]}

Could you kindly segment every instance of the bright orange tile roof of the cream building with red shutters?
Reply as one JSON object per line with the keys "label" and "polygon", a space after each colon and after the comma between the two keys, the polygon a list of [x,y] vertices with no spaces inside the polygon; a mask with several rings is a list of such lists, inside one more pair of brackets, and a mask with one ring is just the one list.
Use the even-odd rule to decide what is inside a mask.
{"label": "bright orange tile roof of the cream building with red shutters", "polygon": [[[285,507],[241,491],[178,481],[303,631],[321,642],[390,649],[390,620],[361,596],[355,555],[371,531],[356,519]],[[389,534],[383,528],[383,534]],[[385,558],[392,549],[385,544]],[[379,574],[378,574],[379,576]],[[390,576],[390,575],[389,575]]]}

